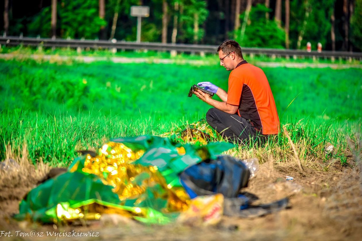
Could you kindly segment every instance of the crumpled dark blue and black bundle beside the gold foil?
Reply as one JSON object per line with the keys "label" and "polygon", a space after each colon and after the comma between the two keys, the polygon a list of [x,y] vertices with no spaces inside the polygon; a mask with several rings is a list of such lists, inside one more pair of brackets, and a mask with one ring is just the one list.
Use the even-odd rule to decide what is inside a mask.
{"label": "crumpled dark blue and black bundle beside the gold foil", "polygon": [[249,168],[232,156],[218,156],[193,165],[180,174],[180,182],[191,198],[198,195],[222,193],[224,195],[224,215],[240,218],[264,216],[288,206],[289,199],[253,206],[258,197],[251,193],[239,194],[241,188],[248,186]]}

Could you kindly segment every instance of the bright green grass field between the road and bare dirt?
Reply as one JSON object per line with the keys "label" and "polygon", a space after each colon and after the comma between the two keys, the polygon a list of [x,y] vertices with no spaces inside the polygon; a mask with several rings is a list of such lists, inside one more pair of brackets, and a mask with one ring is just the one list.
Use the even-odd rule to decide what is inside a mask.
{"label": "bright green grass field between the road and bare dirt", "polygon": [[[362,70],[263,70],[300,158],[346,164],[346,137],[356,143],[355,133],[362,133]],[[227,89],[228,74],[216,60],[199,67],[0,60],[0,159],[6,149],[17,154],[26,145],[33,162],[66,165],[75,150],[109,138],[162,134],[197,121],[210,106],[187,97],[191,85],[210,81]],[[335,148],[326,155],[328,142]],[[293,154],[281,133],[264,147],[240,147],[237,155],[283,162]]]}

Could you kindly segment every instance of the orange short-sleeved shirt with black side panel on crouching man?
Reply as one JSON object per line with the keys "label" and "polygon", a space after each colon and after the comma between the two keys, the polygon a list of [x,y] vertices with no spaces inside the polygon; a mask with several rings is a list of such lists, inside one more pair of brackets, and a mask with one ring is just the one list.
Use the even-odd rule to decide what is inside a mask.
{"label": "orange short-sleeved shirt with black side panel on crouching man", "polygon": [[238,106],[237,114],[250,120],[262,134],[278,134],[277,107],[268,79],[260,68],[243,60],[231,71],[226,103]]}

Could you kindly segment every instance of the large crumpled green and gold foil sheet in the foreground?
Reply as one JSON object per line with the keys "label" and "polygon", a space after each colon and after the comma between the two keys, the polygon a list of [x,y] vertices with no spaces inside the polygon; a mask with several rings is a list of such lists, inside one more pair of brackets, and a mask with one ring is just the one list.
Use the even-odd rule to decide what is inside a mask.
{"label": "large crumpled green and gold foil sheet in the foreground", "polygon": [[147,135],[113,139],[95,156],[75,159],[66,173],[31,190],[14,218],[63,223],[116,213],[144,223],[168,223],[190,204],[178,173],[231,147]]}

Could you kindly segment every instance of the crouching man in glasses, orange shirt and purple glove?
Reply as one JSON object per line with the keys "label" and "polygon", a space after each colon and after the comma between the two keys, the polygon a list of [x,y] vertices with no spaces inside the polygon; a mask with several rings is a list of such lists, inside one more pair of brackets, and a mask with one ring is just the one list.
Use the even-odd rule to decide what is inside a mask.
{"label": "crouching man in glasses, orange shirt and purple glove", "polygon": [[278,134],[279,117],[273,93],[263,70],[243,58],[239,43],[228,39],[220,44],[220,65],[231,70],[228,91],[210,82],[200,82],[222,100],[211,99],[196,90],[199,99],[215,108],[206,113],[206,121],[228,141],[247,145],[250,139],[264,143],[269,135]]}

